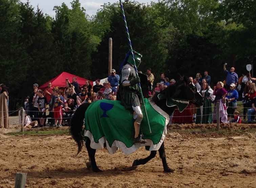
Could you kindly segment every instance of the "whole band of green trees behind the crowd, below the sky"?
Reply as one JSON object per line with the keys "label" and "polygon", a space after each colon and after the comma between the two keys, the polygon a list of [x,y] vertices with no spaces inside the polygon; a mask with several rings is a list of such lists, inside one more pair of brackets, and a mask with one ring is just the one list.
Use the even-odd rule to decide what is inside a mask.
{"label": "whole band of green trees behind the crowd, below the sky", "polygon": [[[106,3],[95,16],[79,0],[53,7],[52,18],[29,2],[0,0],[0,83],[9,87],[10,109],[22,105],[39,85],[63,71],[94,80],[108,75],[108,39],[113,68],[128,51],[119,3]],[[143,54],[140,70],[152,68],[195,76],[208,70],[212,84],[225,79],[223,63],[238,75],[256,55],[255,0],[124,1],[133,48]],[[155,81],[155,82],[156,82]]]}

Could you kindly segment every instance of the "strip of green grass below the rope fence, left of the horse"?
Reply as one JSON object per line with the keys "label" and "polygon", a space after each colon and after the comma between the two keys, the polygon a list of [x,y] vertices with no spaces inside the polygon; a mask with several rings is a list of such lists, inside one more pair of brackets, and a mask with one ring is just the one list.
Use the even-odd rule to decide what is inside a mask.
{"label": "strip of green grass below the rope fence, left of the horse", "polygon": [[24,131],[17,133],[7,133],[6,135],[28,135],[28,136],[48,136],[48,135],[70,135],[69,130],[45,130],[45,131]]}

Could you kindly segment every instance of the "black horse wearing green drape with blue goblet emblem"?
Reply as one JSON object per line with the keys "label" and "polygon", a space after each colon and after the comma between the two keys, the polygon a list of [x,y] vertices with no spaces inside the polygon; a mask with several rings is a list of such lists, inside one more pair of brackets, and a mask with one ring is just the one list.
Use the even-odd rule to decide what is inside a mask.
{"label": "black horse wearing green drape with blue goblet emblem", "polygon": [[134,160],[132,166],[146,164],[155,157],[158,150],[164,171],[173,171],[168,167],[164,147],[169,116],[177,107],[186,108],[188,102],[199,107],[203,104],[203,98],[193,84],[183,79],[161,93],[156,93],[152,98],[144,100],[152,129],[150,134],[144,118],[141,131],[147,140],[145,144],[132,142],[133,116],[130,111],[124,109],[120,101],[100,100],[80,105],[72,117],[70,133],[78,144],[78,153],[85,142],[90,159],[87,167],[91,167],[94,172],[101,171],[95,160],[97,149],[106,147],[109,154],[113,154],[120,148],[125,154],[130,154],[139,147],[146,146],[146,149],[150,150],[150,155],[144,159]]}

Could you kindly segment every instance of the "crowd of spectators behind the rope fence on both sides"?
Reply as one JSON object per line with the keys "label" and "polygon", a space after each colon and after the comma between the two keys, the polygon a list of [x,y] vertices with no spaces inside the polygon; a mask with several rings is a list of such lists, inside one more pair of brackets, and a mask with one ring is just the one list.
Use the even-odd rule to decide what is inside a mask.
{"label": "crowd of spectators behind the rope fence on both sides", "polygon": [[[226,79],[218,81],[216,86],[213,87],[208,71],[204,71],[203,75],[197,73],[194,77],[189,77],[190,83],[196,87],[204,98],[204,104],[196,108],[193,103],[189,103],[183,112],[175,109],[171,122],[215,123],[217,121],[216,104],[219,102],[220,122],[241,123],[242,118],[244,121],[247,118],[248,123],[254,123],[256,78],[252,78],[249,73],[238,77],[235,68],[231,67],[228,71],[226,64],[223,66],[223,71],[226,74]],[[161,73],[160,80],[154,83],[155,78],[150,68],[147,69],[146,75],[149,88],[148,97],[176,83],[175,79],[169,79],[165,73]],[[66,79],[65,88],[53,88],[49,82],[48,87],[44,90],[38,89],[38,84],[34,84],[33,92],[24,102],[26,111],[24,126],[42,127],[49,125],[60,127],[69,125],[71,117],[81,104],[92,103],[101,99],[116,100],[120,77],[116,74],[115,69],[111,70],[111,74],[103,85],[100,84],[100,81],[100,79],[96,79],[94,86],[89,81],[86,81],[85,85],[80,87],[76,77],[73,77],[72,82]],[[237,111],[238,100],[241,100],[243,104],[242,115],[239,115]]]}

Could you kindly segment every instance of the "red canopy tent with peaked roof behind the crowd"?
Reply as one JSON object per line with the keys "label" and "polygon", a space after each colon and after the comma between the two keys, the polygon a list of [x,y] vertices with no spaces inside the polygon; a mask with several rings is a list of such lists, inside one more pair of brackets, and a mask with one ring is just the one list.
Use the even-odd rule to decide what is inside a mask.
{"label": "red canopy tent with peaked roof behind the crowd", "polygon": [[[85,85],[85,82],[87,81],[87,79],[85,79],[85,78],[82,78],[82,77],[79,77],[79,76],[76,76],[76,75],[73,75],[73,74],[70,74],[67,72],[62,72],[55,78],[52,78],[51,80],[44,83],[42,86],[39,87],[39,89],[44,90],[45,88],[47,88],[49,82],[51,83],[52,87],[64,88],[64,87],[66,87],[66,78],[68,78],[69,81],[72,82],[73,77],[77,77],[77,82],[79,84],[79,87],[82,87],[83,85]],[[92,86],[92,84],[93,84],[93,82],[90,81],[91,86]]]}

